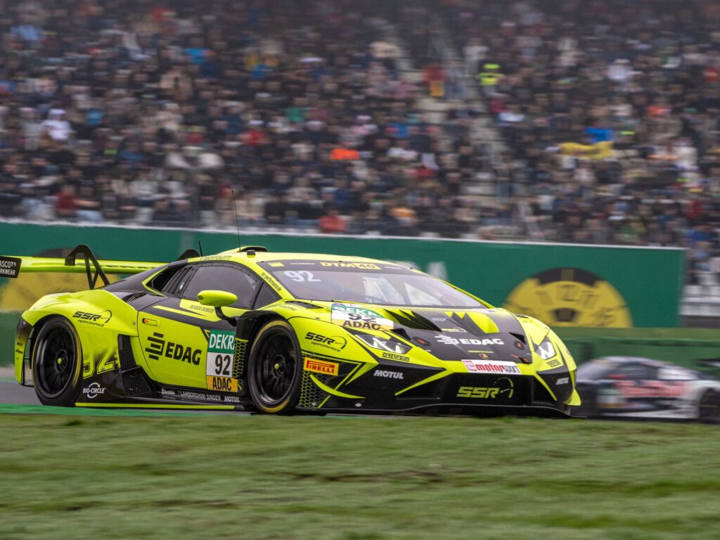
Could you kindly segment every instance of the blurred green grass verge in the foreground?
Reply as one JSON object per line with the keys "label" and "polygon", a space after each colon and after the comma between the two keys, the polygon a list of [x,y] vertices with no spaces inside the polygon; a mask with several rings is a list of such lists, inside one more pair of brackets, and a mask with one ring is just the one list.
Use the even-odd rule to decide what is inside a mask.
{"label": "blurred green grass verge in the foreground", "polygon": [[0,415],[2,539],[717,539],[714,426]]}

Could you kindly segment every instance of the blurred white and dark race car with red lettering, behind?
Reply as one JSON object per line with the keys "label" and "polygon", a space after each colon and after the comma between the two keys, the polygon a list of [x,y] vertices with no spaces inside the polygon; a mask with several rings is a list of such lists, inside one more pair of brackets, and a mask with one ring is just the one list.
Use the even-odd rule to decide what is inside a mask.
{"label": "blurred white and dark race car with red lettering, behind", "polygon": [[577,369],[578,415],[720,421],[720,379],[668,362],[605,356]]}

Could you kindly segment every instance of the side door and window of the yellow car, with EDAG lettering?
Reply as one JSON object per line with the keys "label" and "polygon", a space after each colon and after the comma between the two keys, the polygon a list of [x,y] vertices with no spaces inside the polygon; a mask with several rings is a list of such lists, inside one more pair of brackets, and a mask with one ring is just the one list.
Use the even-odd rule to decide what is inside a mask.
{"label": "side door and window of the yellow car, with EDAG lettering", "polygon": [[262,283],[244,266],[230,262],[174,269],[163,284],[163,300],[138,313],[140,343],[153,378],[180,387],[238,392],[235,327],[217,317],[214,307],[197,302],[197,294],[207,289],[236,294],[238,301],[223,313],[238,317],[253,306]]}

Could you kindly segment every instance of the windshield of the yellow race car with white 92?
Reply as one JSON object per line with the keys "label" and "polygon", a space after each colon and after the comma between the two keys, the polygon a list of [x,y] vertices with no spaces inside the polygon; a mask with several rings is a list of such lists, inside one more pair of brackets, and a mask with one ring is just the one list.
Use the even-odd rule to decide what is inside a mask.
{"label": "windshield of the yellow race car with white 92", "polygon": [[[360,267],[328,268],[321,266],[323,264]],[[399,265],[283,261],[280,268],[267,268],[295,298],[302,300],[412,307],[486,307],[433,276]]]}

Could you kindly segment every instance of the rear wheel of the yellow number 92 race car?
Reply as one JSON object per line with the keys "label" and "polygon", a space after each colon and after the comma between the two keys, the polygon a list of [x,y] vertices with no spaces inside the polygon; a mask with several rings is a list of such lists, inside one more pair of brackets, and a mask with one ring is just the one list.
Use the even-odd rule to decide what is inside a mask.
{"label": "rear wheel of the yellow number 92 race car", "polygon": [[82,388],[82,358],[73,325],[59,315],[46,320],[32,348],[32,380],[42,405],[75,405]]}

